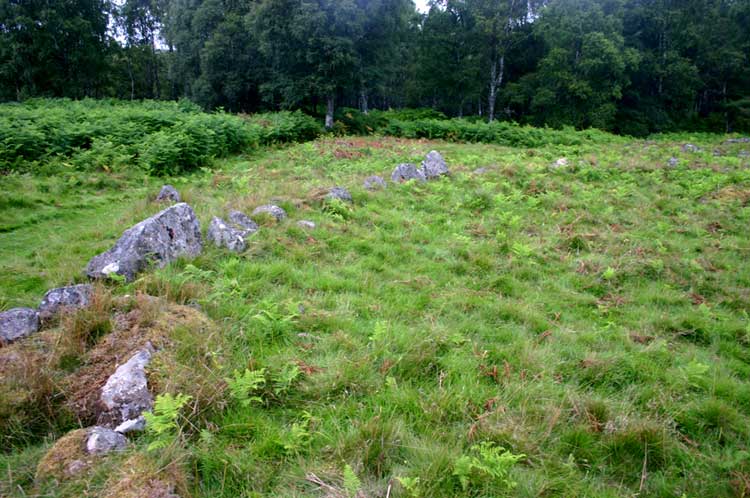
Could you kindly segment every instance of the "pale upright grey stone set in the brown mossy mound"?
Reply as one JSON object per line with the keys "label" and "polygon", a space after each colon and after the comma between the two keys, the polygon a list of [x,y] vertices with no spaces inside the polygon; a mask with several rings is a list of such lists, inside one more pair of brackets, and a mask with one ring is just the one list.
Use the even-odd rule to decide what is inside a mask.
{"label": "pale upright grey stone set in the brown mossy mound", "polygon": [[117,367],[102,388],[100,400],[108,411],[108,419],[114,426],[137,419],[144,411],[151,410],[154,398],[148,390],[146,366],[151,361],[153,347],[135,353],[124,364]]}

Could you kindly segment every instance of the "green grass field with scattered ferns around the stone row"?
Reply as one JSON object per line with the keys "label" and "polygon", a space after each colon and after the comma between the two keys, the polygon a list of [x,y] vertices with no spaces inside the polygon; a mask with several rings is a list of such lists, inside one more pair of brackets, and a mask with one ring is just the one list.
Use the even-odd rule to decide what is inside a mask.
{"label": "green grass field with scattered ferns around the stone row", "polygon": [[[163,392],[215,387],[200,385],[209,401],[183,410],[173,445],[148,452],[144,436],[103,465],[179,461],[173,480],[195,497],[747,496],[750,163],[723,138],[322,138],[167,179],[204,229],[272,199],[290,219],[240,255],[207,247],[110,286],[199,307],[218,332],[202,344],[177,327],[154,367]],[[431,149],[451,178],[360,187]],[[0,306],[82,281],[163,207],[163,181],[3,177]],[[333,185],[354,204],[322,203]],[[263,382],[236,397],[235,371]],[[102,471],[34,484],[49,434],[0,455],[0,495],[118,489]]]}

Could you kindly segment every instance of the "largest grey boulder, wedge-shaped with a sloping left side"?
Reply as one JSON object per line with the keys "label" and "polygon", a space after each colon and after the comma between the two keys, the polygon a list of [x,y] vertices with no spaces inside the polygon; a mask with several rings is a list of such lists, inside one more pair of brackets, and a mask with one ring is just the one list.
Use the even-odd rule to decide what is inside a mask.
{"label": "largest grey boulder, wedge-shaped with a sloping left side", "polygon": [[198,218],[183,202],[126,230],[112,249],[89,261],[86,274],[117,274],[130,281],[151,264],[161,268],[181,256],[197,256],[202,249]]}

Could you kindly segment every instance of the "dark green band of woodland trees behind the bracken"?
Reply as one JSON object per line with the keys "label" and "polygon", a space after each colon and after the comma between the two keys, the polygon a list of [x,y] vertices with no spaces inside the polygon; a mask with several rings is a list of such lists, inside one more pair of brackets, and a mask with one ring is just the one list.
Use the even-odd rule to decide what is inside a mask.
{"label": "dark green band of woodland trees behind the bracken", "polygon": [[0,100],[750,129],[750,0],[0,0]]}

